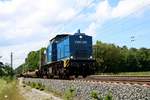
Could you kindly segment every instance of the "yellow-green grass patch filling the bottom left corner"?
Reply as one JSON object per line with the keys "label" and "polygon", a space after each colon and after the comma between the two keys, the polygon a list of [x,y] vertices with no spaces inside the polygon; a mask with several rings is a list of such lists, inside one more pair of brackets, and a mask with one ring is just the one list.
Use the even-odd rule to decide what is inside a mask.
{"label": "yellow-green grass patch filling the bottom left corner", "polygon": [[24,100],[15,80],[0,79],[0,100]]}

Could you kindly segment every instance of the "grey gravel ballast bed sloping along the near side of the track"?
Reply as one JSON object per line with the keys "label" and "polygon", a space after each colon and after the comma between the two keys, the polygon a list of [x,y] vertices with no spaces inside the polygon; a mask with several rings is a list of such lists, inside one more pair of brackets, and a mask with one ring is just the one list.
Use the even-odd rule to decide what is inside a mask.
{"label": "grey gravel ballast bed sloping along the near side of the track", "polygon": [[111,93],[113,100],[150,100],[150,87],[137,84],[85,82],[69,80],[51,80],[24,78],[24,82],[36,82],[43,84],[47,90],[64,93],[73,87],[77,100],[90,100],[91,92],[96,90],[102,97]]}

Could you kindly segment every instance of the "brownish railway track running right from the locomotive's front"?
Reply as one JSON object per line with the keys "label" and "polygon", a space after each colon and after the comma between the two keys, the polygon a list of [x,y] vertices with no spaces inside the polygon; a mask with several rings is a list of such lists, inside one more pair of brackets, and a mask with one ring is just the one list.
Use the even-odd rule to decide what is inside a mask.
{"label": "brownish railway track running right from the locomotive's front", "polygon": [[76,79],[78,81],[85,82],[105,82],[105,83],[116,83],[116,84],[131,84],[131,85],[143,85],[150,87],[150,76],[101,76],[91,75],[85,79]]}

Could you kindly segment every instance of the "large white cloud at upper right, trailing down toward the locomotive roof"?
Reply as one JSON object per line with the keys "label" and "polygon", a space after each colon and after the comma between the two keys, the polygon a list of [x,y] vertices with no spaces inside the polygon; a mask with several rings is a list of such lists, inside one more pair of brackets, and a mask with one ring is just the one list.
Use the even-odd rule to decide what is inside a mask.
{"label": "large white cloud at upper right, trailing down toward the locomotive roof", "polygon": [[[108,0],[103,0],[95,5],[95,13],[86,31],[96,32],[96,29],[109,19],[140,17],[147,8],[150,8],[150,0],[120,0],[116,7],[111,7]],[[91,34],[96,35],[93,33]]]}

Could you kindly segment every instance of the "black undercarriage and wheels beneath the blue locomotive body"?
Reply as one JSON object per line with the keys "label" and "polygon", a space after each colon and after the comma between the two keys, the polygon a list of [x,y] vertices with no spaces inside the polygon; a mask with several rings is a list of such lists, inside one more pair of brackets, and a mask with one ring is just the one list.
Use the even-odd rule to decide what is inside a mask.
{"label": "black undercarriage and wheels beneath the blue locomotive body", "polygon": [[[66,60],[46,65],[41,69],[41,76],[47,78],[68,78],[69,76],[86,77],[93,73],[94,60]],[[45,70],[46,68],[46,70]]]}

